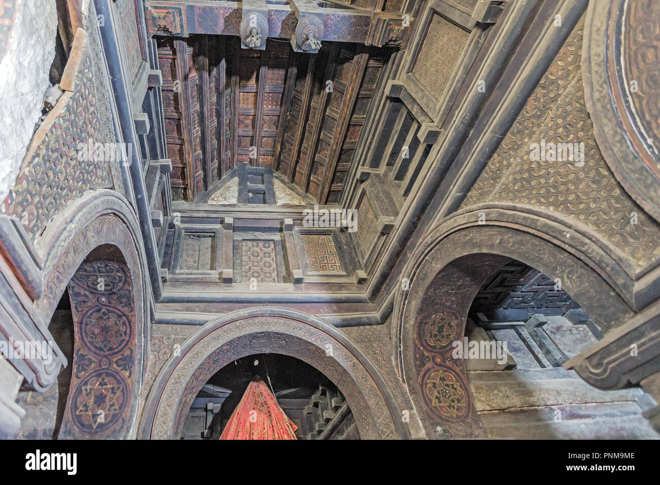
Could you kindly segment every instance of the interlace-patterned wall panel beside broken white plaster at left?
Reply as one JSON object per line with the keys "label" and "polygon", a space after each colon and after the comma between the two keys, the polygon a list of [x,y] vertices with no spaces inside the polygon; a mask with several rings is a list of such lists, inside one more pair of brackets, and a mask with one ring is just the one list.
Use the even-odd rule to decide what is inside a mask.
{"label": "interlace-patterned wall panel beside broken white plaster at left", "polygon": [[[92,6],[90,11],[94,13]],[[71,100],[22,166],[2,207],[3,212],[20,218],[33,241],[55,214],[84,191],[113,187],[107,161],[79,160],[78,156],[79,146],[88,146],[90,141],[116,143],[110,102],[100,38],[92,28]]]}

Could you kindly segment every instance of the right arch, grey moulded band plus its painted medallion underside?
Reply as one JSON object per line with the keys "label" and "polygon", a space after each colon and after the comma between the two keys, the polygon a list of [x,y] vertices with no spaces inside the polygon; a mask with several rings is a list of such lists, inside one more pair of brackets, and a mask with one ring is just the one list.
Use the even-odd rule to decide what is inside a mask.
{"label": "right arch, grey moulded band plus its painted medallion underside", "polygon": [[[572,234],[570,242],[560,238],[564,231]],[[427,233],[405,267],[409,289],[397,291],[393,315],[399,372],[427,436],[482,436],[451,342],[462,339],[482,284],[511,259],[560,278],[603,333],[630,318],[630,295],[618,284],[625,271],[607,247],[590,245],[589,236],[559,218],[508,207],[463,210]]]}

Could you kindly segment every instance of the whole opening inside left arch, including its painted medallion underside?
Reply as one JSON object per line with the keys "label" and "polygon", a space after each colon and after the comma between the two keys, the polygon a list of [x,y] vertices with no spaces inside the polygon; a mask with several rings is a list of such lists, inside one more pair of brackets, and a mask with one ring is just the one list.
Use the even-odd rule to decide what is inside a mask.
{"label": "whole opening inside left arch, including its painted medallion underside", "polygon": [[68,365],[44,393],[22,393],[20,403],[30,416],[22,422],[22,437],[125,436],[137,405],[136,322],[129,267],[118,247],[99,245],[81,262],[53,312],[49,331]]}

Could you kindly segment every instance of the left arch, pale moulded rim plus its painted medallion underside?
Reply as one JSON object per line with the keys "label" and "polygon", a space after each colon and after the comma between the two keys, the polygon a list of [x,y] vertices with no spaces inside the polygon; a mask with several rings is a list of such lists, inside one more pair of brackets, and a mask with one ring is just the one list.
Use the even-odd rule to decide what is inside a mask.
{"label": "left arch, pale moulded rim plus its painted medallion underside", "polygon": [[[68,362],[73,377],[64,414],[71,426],[67,432],[61,432],[61,437],[135,437],[139,389],[145,370],[144,349],[149,344],[150,311],[146,259],[140,239],[137,217],[127,201],[114,191],[100,190],[67,207],[35,241],[37,251],[44,258],[44,283],[42,298],[36,302],[34,311],[48,325],[68,286],[78,334],[73,360]],[[106,278],[103,290],[96,286],[100,275]],[[94,349],[93,342],[83,342],[84,327],[100,321],[104,312],[110,321],[123,322],[119,330],[125,335],[117,338],[117,348],[106,346],[106,341],[97,342],[100,346]],[[53,380],[63,364],[67,363],[53,361],[50,369]],[[93,373],[98,375],[94,377]],[[107,379],[114,376],[114,381],[106,385],[120,389],[123,399],[110,414],[104,410],[106,421],[102,426],[88,419],[91,428],[86,428],[71,410],[75,405],[71,400],[76,393],[80,397],[79,388],[85,383],[87,387],[99,385],[102,374]]]}

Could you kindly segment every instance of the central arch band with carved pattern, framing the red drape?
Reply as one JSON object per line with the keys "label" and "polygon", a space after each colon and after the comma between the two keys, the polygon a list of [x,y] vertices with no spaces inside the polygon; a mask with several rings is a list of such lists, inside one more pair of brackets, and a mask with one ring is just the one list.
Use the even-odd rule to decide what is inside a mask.
{"label": "central arch band with carved pattern, framing the red drape", "polygon": [[255,352],[296,357],[331,379],[364,439],[407,436],[380,373],[350,340],[312,315],[273,307],[234,311],[188,337],[156,378],[140,437],[176,439],[202,385],[232,360]]}

